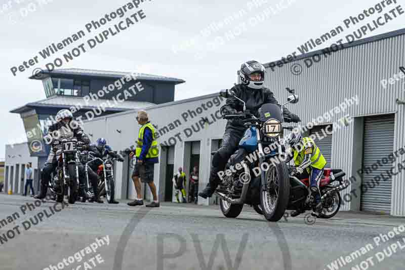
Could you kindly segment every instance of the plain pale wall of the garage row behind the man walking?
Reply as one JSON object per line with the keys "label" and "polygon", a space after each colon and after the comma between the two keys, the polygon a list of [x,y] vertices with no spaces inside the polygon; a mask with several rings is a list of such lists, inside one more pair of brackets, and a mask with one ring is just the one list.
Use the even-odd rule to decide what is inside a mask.
{"label": "plain pale wall of the garage row behind the man walking", "polygon": [[[195,111],[196,108],[201,107],[201,104],[212,104],[212,107],[206,107],[207,110],[202,109],[201,113],[197,113],[196,116],[191,117],[188,110]],[[175,120],[179,120],[180,122],[180,124],[177,123],[177,127],[173,130],[170,130],[168,128],[169,130],[167,132],[162,131],[161,133],[163,135],[157,138],[159,144],[166,142],[166,145],[169,145],[170,138],[174,138],[170,140],[171,143],[175,143],[174,172],[176,172],[179,167],[184,167],[184,143],[188,141],[201,141],[199,168],[200,189],[204,188],[208,181],[208,174],[210,169],[209,162],[211,155],[210,140],[213,137],[222,138],[222,134],[225,130],[226,121],[218,121],[215,118],[215,113],[217,111],[217,116],[220,117],[219,108],[224,104],[225,99],[221,100],[218,94],[212,94],[189,99],[186,102],[169,102],[144,108],[149,114],[150,122],[154,126],[157,126],[157,129],[155,129],[156,132],[159,132],[159,130],[163,129],[164,127],[169,127],[169,125],[172,124]],[[108,143],[113,148],[113,150],[125,150],[126,148],[135,145],[136,139],[138,137],[140,126],[136,122],[135,117],[136,111],[112,114],[90,122],[85,122],[84,129],[85,132],[93,134],[93,140],[96,140],[98,137],[105,137],[107,138]],[[189,133],[185,133],[184,130],[187,129],[187,132],[189,132],[190,130],[192,130],[192,126],[194,126],[195,130],[198,130],[196,125],[198,125],[198,121],[201,119],[201,117],[208,118],[211,124],[204,126],[203,129],[199,129],[198,132],[193,131],[191,135]],[[117,130],[119,130],[120,133],[117,132]],[[161,190],[159,190],[160,171],[163,169],[161,168],[161,166],[163,166],[163,164],[161,164],[160,162],[156,164],[154,171],[154,183],[158,189],[158,194],[161,193]],[[189,168],[184,168],[184,170],[189,170]],[[121,163],[117,163],[116,166],[116,181],[117,184],[115,194],[120,195],[121,191],[123,191],[120,189],[122,186],[122,181],[128,181],[127,179],[123,179],[123,167]],[[129,181],[128,187],[131,189],[129,195],[130,199],[132,199],[136,194],[135,191],[132,190],[134,188],[134,184],[132,181]],[[150,191],[148,190],[147,192]],[[117,197],[117,199],[124,198]],[[173,201],[175,200],[176,199],[173,195]],[[208,204],[208,202],[204,202],[206,200],[200,201],[203,204]]]}

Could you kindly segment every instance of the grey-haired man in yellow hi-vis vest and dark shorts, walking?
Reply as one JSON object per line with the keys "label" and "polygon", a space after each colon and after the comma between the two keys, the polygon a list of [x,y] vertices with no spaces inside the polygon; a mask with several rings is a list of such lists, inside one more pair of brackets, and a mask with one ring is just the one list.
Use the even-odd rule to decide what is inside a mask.
{"label": "grey-haired man in yellow hi-vis vest and dark shorts, walking", "polygon": [[134,181],[137,199],[131,203],[128,203],[128,205],[143,205],[141,183],[139,181],[140,177],[142,183],[148,183],[150,191],[153,195],[153,202],[146,205],[146,207],[159,207],[156,186],[153,183],[154,164],[158,163],[159,156],[159,148],[157,141],[155,140],[154,127],[152,124],[150,124],[148,114],[144,110],[138,111],[136,120],[142,127],[138,132],[135,153],[130,153],[130,158],[132,159],[135,155],[137,160],[134,166],[134,172],[132,173],[132,180]]}

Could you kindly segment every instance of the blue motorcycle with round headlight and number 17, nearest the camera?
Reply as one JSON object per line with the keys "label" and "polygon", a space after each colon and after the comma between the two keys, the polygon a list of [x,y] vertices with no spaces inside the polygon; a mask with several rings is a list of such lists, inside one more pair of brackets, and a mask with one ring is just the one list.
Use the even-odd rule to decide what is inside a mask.
{"label": "blue motorcycle with round headlight and number 17, nearest the camera", "polygon": [[[224,216],[235,218],[241,213],[244,204],[249,204],[262,209],[267,220],[278,221],[289,203],[290,177],[285,162],[271,162],[285,149],[280,144],[272,148],[268,146],[276,144],[283,129],[288,128],[281,126],[284,122],[282,108],[288,103],[297,103],[298,96],[290,95],[282,105],[263,104],[259,109],[259,118],[246,109],[245,101],[239,99],[232,90],[222,90],[220,96],[234,97],[244,105],[243,113],[223,114],[223,119],[238,119],[247,127],[238,149],[225,167],[227,174],[215,191],[220,197],[221,211]],[[236,170],[233,170],[235,166]],[[261,168],[260,173],[257,168]]]}

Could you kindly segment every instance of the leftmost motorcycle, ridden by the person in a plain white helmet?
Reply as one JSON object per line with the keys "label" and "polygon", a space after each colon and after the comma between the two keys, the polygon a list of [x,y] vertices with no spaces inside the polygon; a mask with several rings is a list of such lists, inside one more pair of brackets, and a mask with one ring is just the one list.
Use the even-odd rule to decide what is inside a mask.
{"label": "leftmost motorcycle, ridden by the person in a plain white helmet", "polygon": [[58,164],[49,186],[58,203],[63,202],[65,195],[69,204],[76,202],[79,187],[79,151],[83,148],[84,143],[78,142],[77,139],[59,139],[53,142],[53,151],[58,157]]}

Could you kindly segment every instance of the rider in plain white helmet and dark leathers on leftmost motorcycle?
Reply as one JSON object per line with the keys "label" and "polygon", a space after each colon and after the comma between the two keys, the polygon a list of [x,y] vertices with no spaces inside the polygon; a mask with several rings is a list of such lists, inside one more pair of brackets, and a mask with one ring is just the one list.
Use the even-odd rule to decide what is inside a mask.
{"label": "rider in plain white helmet and dark leathers on leftmost motorcycle", "polygon": [[[73,120],[73,114],[70,110],[63,109],[58,111],[56,114],[56,123],[51,125],[48,129],[48,133],[45,136],[45,139],[48,144],[53,143],[55,139],[72,139],[76,138],[77,141],[81,141],[85,144],[90,143],[89,137],[84,133],[83,129],[79,126],[77,121]],[[41,170],[41,191],[38,195],[35,195],[35,199],[44,199],[47,195],[48,183],[51,178],[51,173],[55,171],[57,167],[56,153],[51,149],[48,161],[45,163],[44,168]],[[78,174],[79,174],[79,195],[88,197],[85,190],[85,181],[86,173],[83,165],[78,165]],[[94,189],[95,197],[98,198],[97,192],[97,178],[92,179],[92,183],[95,184],[96,188]]]}

